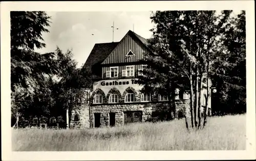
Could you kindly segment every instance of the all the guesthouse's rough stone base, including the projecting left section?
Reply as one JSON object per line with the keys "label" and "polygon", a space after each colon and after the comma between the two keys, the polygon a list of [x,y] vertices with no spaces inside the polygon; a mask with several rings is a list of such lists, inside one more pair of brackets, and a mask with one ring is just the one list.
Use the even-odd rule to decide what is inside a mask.
{"label": "all the guesthouse's rough stone base, including the projecting left section", "polygon": [[[175,118],[186,116],[190,118],[190,101],[189,99],[175,100],[176,112]],[[204,111],[202,107],[202,111]],[[163,102],[136,102],[136,103],[113,103],[113,104],[97,104],[91,105],[91,114],[89,115],[89,104],[80,104],[80,107],[71,112],[70,128],[90,128],[94,127],[94,114],[100,113],[100,127],[110,126],[110,113],[115,113],[115,126],[122,126],[125,122],[125,112],[141,112],[142,122],[145,122],[151,117],[156,117],[159,113],[168,115],[169,105],[168,101]],[[209,109],[209,116],[210,116]],[[79,117],[79,121],[74,121],[75,115]]]}

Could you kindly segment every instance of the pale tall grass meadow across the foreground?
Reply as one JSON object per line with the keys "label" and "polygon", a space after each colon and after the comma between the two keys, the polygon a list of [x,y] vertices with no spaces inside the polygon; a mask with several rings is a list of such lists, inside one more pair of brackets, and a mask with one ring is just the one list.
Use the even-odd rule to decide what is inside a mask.
{"label": "pale tall grass meadow across the foreground", "polygon": [[202,131],[184,120],[122,127],[13,130],[13,151],[244,150],[246,115],[212,117]]}

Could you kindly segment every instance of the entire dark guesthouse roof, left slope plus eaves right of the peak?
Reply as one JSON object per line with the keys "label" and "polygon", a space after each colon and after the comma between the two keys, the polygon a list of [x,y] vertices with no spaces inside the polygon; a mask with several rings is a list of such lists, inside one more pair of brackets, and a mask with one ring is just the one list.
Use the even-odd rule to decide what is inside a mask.
{"label": "entire dark guesthouse roof, left slope plus eaves right of the peak", "polygon": [[[133,35],[136,38],[138,38],[145,46],[148,45],[148,40],[139,36],[138,34],[132,32],[129,30],[126,35]],[[123,37],[123,38],[124,38]],[[122,38],[122,39],[123,39]],[[121,40],[122,41],[122,40]],[[102,63],[109,55],[110,53],[117,47],[117,45],[121,42],[110,42],[110,43],[96,43],[86,61],[86,63],[83,65],[83,68],[86,68],[86,70],[91,71],[92,67],[95,64],[100,64]]]}

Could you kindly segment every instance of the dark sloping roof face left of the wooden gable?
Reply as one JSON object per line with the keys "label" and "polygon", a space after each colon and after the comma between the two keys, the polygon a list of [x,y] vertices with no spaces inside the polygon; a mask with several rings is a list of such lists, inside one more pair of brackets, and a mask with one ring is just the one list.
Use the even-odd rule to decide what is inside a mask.
{"label": "dark sloping roof face left of the wooden gable", "polygon": [[119,42],[95,44],[83,68],[91,70],[94,64],[98,64],[104,61],[118,43]]}

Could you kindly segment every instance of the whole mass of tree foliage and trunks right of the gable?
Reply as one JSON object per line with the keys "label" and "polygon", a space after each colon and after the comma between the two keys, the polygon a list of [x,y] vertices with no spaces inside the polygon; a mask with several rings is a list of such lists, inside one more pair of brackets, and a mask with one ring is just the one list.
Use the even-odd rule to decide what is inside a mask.
{"label": "whole mass of tree foliage and trunks right of the gable", "polygon": [[[239,99],[242,96],[245,102],[245,15],[242,12],[234,18],[230,16],[231,12],[221,11],[217,14],[216,11],[157,11],[151,17],[156,24],[151,30],[153,37],[148,45],[152,52],[145,54],[145,59],[141,61],[148,66],[143,70],[147,76],[140,77],[140,84],[145,86],[143,91],[163,91],[172,98],[175,96],[175,88],[190,91],[193,98],[195,95],[195,107],[194,99],[191,99],[190,109],[191,114],[195,115],[196,126],[198,117],[201,122],[199,99],[204,78],[212,79],[213,86],[221,93],[219,98],[228,95],[229,102],[233,101],[232,104],[235,104],[234,102],[241,102]],[[236,70],[239,74],[234,72]],[[208,102],[211,99],[210,83],[206,82]],[[234,92],[234,89],[237,91]],[[233,111],[232,106],[228,107],[229,112]],[[204,125],[207,121],[207,109],[208,103]]]}

